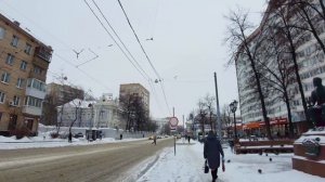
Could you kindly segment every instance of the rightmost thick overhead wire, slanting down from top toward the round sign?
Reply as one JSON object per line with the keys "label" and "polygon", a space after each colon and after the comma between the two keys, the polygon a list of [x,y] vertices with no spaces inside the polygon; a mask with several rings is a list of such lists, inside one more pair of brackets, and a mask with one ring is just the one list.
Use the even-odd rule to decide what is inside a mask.
{"label": "rightmost thick overhead wire, slanting down from top toward the round sign", "polygon": [[167,106],[167,108],[168,108],[169,114],[171,114],[171,112],[170,112],[170,109],[169,109],[169,108],[170,108],[170,107],[169,107],[169,104],[168,104],[168,102],[167,102],[167,96],[166,96],[165,88],[164,88],[164,84],[161,83],[162,79],[161,79],[160,75],[158,74],[157,69],[155,68],[155,66],[153,65],[153,63],[152,63],[151,58],[148,57],[147,53],[145,52],[145,50],[144,50],[142,43],[140,42],[140,39],[139,39],[139,37],[138,37],[138,35],[136,35],[136,32],[135,32],[135,30],[134,30],[134,28],[133,28],[133,26],[132,26],[132,24],[131,24],[131,22],[130,22],[130,20],[129,20],[129,17],[128,17],[128,15],[127,15],[127,13],[126,13],[126,11],[125,11],[125,9],[123,9],[123,6],[122,6],[120,0],[117,0],[117,1],[118,1],[118,3],[119,3],[119,6],[121,8],[121,10],[122,10],[122,12],[123,12],[123,14],[125,14],[127,21],[128,21],[128,24],[129,24],[130,28],[131,28],[132,31],[133,31],[133,35],[134,35],[135,38],[136,38],[136,41],[139,42],[139,44],[140,44],[140,47],[141,47],[142,52],[145,54],[146,60],[148,61],[151,67],[153,68],[154,73],[156,74],[157,78],[159,79],[159,83],[160,83],[160,87],[161,87],[161,91],[162,91],[162,94],[164,94],[164,99],[165,99],[166,106]]}

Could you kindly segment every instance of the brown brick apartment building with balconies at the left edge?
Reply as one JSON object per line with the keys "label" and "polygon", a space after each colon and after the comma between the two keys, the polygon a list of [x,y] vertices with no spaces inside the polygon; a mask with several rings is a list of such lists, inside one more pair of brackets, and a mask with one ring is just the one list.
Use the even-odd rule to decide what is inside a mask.
{"label": "brown brick apartment building with balconies at the left edge", "polygon": [[0,131],[36,134],[52,48],[0,14]]}

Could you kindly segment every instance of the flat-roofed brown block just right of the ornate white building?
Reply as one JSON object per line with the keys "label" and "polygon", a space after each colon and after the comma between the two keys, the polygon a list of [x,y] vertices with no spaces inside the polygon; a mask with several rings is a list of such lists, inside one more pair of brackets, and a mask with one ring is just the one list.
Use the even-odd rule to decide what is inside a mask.
{"label": "flat-roofed brown block just right of the ornate white building", "polygon": [[150,110],[150,92],[140,83],[120,84],[119,98],[128,99],[129,96],[139,96],[144,105],[144,108]]}

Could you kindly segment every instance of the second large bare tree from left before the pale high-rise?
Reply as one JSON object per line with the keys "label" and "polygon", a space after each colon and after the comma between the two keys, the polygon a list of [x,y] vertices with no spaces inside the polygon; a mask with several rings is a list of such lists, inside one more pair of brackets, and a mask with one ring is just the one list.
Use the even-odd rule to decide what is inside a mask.
{"label": "second large bare tree from left before the pale high-rise", "polygon": [[[268,21],[265,22],[268,24]],[[272,24],[272,23],[271,23]],[[291,120],[291,108],[290,101],[294,96],[292,90],[295,87],[292,82],[295,81],[295,72],[291,64],[290,57],[286,56],[286,47],[283,46],[278,36],[274,34],[275,31],[270,28],[265,29],[263,34],[266,39],[263,44],[264,54],[261,58],[258,58],[260,65],[262,65],[263,70],[263,84],[270,88],[268,91],[271,95],[269,99],[269,104],[273,105],[277,100],[284,101],[287,107],[287,115],[289,121],[289,134],[294,135],[294,125]],[[269,110],[269,113],[274,113]]]}

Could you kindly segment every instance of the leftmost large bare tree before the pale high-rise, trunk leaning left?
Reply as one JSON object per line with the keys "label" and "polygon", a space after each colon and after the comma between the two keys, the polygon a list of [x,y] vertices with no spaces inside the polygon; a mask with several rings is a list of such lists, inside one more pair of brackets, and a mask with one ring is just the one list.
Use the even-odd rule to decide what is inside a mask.
{"label": "leftmost large bare tree before the pale high-rise, trunk leaning left", "polygon": [[261,102],[262,116],[266,127],[266,134],[270,140],[272,140],[271,129],[270,129],[270,120],[268,117],[266,106],[265,106],[265,96],[262,91],[261,86],[261,73],[258,67],[258,54],[261,54],[261,44],[264,41],[264,38],[260,34],[263,27],[259,27],[256,29],[249,37],[247,34],[252,30],[255,27],[251,23],[248,22],[248,13],[243,13],[243,11],[238,10],[238,12],[231,12],[226,17],[230,22],[227,27],[227,31],[230,36],[226,38],[226,42],[231,49],[231,60],[229,64],[238,61],[238,58],[246,58],[249,67],[251,68],[251,78],[256,82],[256,90],[259,95],[259,100]]}

